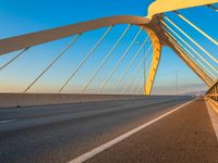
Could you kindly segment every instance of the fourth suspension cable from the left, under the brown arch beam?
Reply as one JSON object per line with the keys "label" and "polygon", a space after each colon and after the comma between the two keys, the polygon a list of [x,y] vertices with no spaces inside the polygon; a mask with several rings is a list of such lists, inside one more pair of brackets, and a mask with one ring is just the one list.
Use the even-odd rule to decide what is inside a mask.
{"label": "fourth suspension cable from the left, under the brown arch beam", "polygon": [[109,59],[109,57],[111,55],[111,53],[118,47],[118,45],[120,43],[121,39],[125,36],[125,34],[130,29],[130,27],[131,27],[131,24],[128,25],[128,27],[125,28],[125,30],[122,33],[122,35],[120,36],[120,38],[117,40],[117,42],[110,49],[110,51],[107,53],[106,58],[102,60],[102,62],[100,63],[100,65],[98,66],[98,68],[95,71],[94,75],[88,79],[87,84],[83,88],[82,93],[85,92],[85,90],[87,89],[87,87],[89,86],[89,84],[93,82],[93,79],[96,77],[96,75],[98,74],[98,72],[100,71],[100,68],[105,65],[106,61]]}

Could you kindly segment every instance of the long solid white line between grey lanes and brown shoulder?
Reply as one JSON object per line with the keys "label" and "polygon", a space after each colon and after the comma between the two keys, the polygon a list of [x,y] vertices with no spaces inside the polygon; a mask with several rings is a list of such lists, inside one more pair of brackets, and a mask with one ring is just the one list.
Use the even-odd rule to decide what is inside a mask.
{"label": "long solid white line between grey lanes and brown shoulder", "polygon": [[125,133],[125,134],[123,134],[121,136],[119,136],[119,137],[117,137],[117,138],[114,138],[114,139],[112,139],[112,140],[110,140],[110,141],[108,141],[108,142],[106,142],[106,143],[104,143],[104,145],[101,145],[101,146],[99,146],[97,148],[94,148],[93,150],[90,150],[90,151],[88,151],[88,152],[86,152],[86,153],[84,153],[84,154],[82,154],[82,155],[69,161],[68,163],[82,163],[82,162],[93,158],[94,155],[105,151],[106,149],[110,148],[111,146],[122,141],[123,139],[132,136],[133,134],[142,130],[143,128],[154,124],[155,122],[157,122],[157,121],[166,117],[167,115],[178,111],[179,109],[190,104],[194,100],[192,100],[190,102],[186,102],[186,103],[184,103],[184,104],[182,104],[182,105],[180,105],[180,106],[178,106],[178,108],[175,108],[175,109],[173,109],[173,110],[171,110],[171,111],[169,111],[169,112],[167,112],[167,113],[165,113],[165,114],[162,114],[162,115],[160,115],[160,116],[158,116],[158,117],[156,117],[156,118],[154,118],[154,120],[152,120],[152,121],[149,121],[149,122],[147,122],[147,123],[145,123],[145,124],[143,124],[143,125],[141,125],[141,126],[138,126],[138,127],[136,127],[136,128],[134,128],[134,129],[132,129],[132,130],[130,130],[130,131],[128,131],[128,133]]}

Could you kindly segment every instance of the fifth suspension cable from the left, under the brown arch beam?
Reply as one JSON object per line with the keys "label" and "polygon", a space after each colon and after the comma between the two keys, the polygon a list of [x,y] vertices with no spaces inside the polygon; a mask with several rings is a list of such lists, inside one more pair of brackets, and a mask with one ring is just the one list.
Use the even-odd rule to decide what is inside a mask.
{"label": "fifth suspension cable from the left, under the brown arch beam", "polygon": [[106,80],[102,83],[99,92],[102,91],[102,89],[105,88],[105,86],[107,85],[107,83],[109,82],[109,79],[111,78],[111,76],[113,75],[113,73],[116,72],[116,70],[118,68],[118,66],[120,65],[120,63],[122,62],[122,60],[124,59],[125,54],[130,51],[130,49],[132,48],[133,43],[135,42],[136,38],[138,37],[138,35],[141,34],[143,27],[140,28],[140,30],[137,32],[137,34],[135,35],[134,39],[132,40],[132,42],[130,43],[130,46],[128,47],[128,49],[123,52],[123,54],[121,55],[120,60],[118,61],[118,63],[116,64],[116,66],[111,70],[111,72],[109,73],[109,76],[106,78]]}

